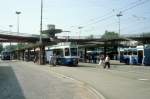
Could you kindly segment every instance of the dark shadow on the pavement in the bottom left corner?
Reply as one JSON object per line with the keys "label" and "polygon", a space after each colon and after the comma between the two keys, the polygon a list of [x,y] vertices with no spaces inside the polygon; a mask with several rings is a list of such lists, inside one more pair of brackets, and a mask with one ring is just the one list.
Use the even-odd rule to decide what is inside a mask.
{"label": "dark shadow on the pavement in the bottom left corner", "polygon": [[10,66],[0,66],[0,99],[25,99],[16,75]]}

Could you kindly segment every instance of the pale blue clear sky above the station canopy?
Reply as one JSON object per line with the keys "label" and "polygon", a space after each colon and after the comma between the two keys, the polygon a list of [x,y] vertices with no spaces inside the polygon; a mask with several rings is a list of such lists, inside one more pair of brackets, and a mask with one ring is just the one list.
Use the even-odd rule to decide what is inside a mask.
{"label": "pale blue clear sky above the station canopy", "polygon": [[[11,30],[16,32],[15,12],[21,11],[20,32],[39,34],[40,1],[1,0],[0,30],[10,30],[9,25],[13,25]],[[43,29],[55,24],[74,36],[102,35],[105,30],[118,32],[116,14],[122,11],[121,34],[150,32],[150,0],[43,0],[43,6]]]}

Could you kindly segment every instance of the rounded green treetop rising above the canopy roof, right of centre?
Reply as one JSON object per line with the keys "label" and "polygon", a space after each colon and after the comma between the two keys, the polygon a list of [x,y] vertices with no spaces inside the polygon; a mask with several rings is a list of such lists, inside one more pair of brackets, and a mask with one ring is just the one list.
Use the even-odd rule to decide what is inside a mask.
{"label": "rounded green treetop rising above the canopy roof, right of centre", "polygon": [[102,39],[111,40],[111,39],[117,39],[119,38],[118,33],[105,31],[105,34],[102,35]]}

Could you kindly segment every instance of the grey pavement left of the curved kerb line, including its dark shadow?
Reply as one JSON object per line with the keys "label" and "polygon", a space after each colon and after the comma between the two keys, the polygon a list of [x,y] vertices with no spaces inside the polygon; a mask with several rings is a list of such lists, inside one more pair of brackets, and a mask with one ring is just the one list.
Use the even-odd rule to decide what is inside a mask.
{"label": "grey pavement left of the curved kerb line, including its dark shadow", "polygon": [[96,99],[82,84],[33,63],[0,61],[0,99]]}

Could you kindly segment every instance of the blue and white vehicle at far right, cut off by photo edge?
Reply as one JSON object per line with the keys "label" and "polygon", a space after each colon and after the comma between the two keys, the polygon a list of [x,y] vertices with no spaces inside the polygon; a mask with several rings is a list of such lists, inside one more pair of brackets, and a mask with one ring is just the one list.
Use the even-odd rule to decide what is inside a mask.
{"label": "blue and white vehicle at far right, cut off by photo edge", "polygon": [[120,49],[120,62],[150,65],[150,48],[137,46]]}

